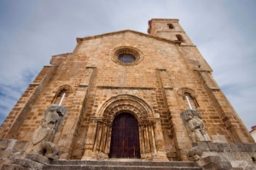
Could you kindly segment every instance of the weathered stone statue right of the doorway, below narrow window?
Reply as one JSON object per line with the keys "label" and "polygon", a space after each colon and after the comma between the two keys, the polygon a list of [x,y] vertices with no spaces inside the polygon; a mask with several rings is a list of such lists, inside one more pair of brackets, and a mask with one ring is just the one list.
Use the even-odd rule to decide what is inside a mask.
{"label": "weathered stone statue right of the doorway, below narrow window", "polygon": [[191,109],[183,111],[181,116],[192,143],[211,141],[206,132],[205,123],[201,120],[201,115],[198,110]]}

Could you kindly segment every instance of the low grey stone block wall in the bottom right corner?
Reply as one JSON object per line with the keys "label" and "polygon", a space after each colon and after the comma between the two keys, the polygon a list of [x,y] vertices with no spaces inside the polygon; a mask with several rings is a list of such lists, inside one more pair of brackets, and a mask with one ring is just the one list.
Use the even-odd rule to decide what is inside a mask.
{"label": "low grey stone block wall in the bottom right corner", "polygon": [[256,144],[198,142],[203,151],[197,161],[203,169],[256,169]]}

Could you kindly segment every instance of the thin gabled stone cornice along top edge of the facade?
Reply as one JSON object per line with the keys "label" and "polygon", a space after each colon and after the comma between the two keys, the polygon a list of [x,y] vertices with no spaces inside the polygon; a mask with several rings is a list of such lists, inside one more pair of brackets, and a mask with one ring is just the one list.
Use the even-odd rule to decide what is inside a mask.
{"label": "thin gabled stone cornice along top edge of the facade", "polygon": [[139,32],[139,31],[132,31],[132,30],[114,31],[114,32],[108,32],[108,33],[105,33],[105,34],[100,34],[100,35],[90,36],[90,37],[77,37],[77,42],[79,43],[79,42],[83,42],[84,40],[90,40],[90,39],[94,39],[94,38],[97,38],[97,37],[104,37],[104,36],[109,36],[109,35],[113,35],[113,34],[120,34],[120,33],[124,33],[124,32],[136,33],[136,34],[139,34],[141,36],[151,37],[151,38],[163,41],[163,42],[177,43],[178,45],[181,44],[180,41],[168,40],[168,39],[162,38],[162,37],[154,37],[154,36],[149,35],[149,34],[145,34],[145,33]]}

